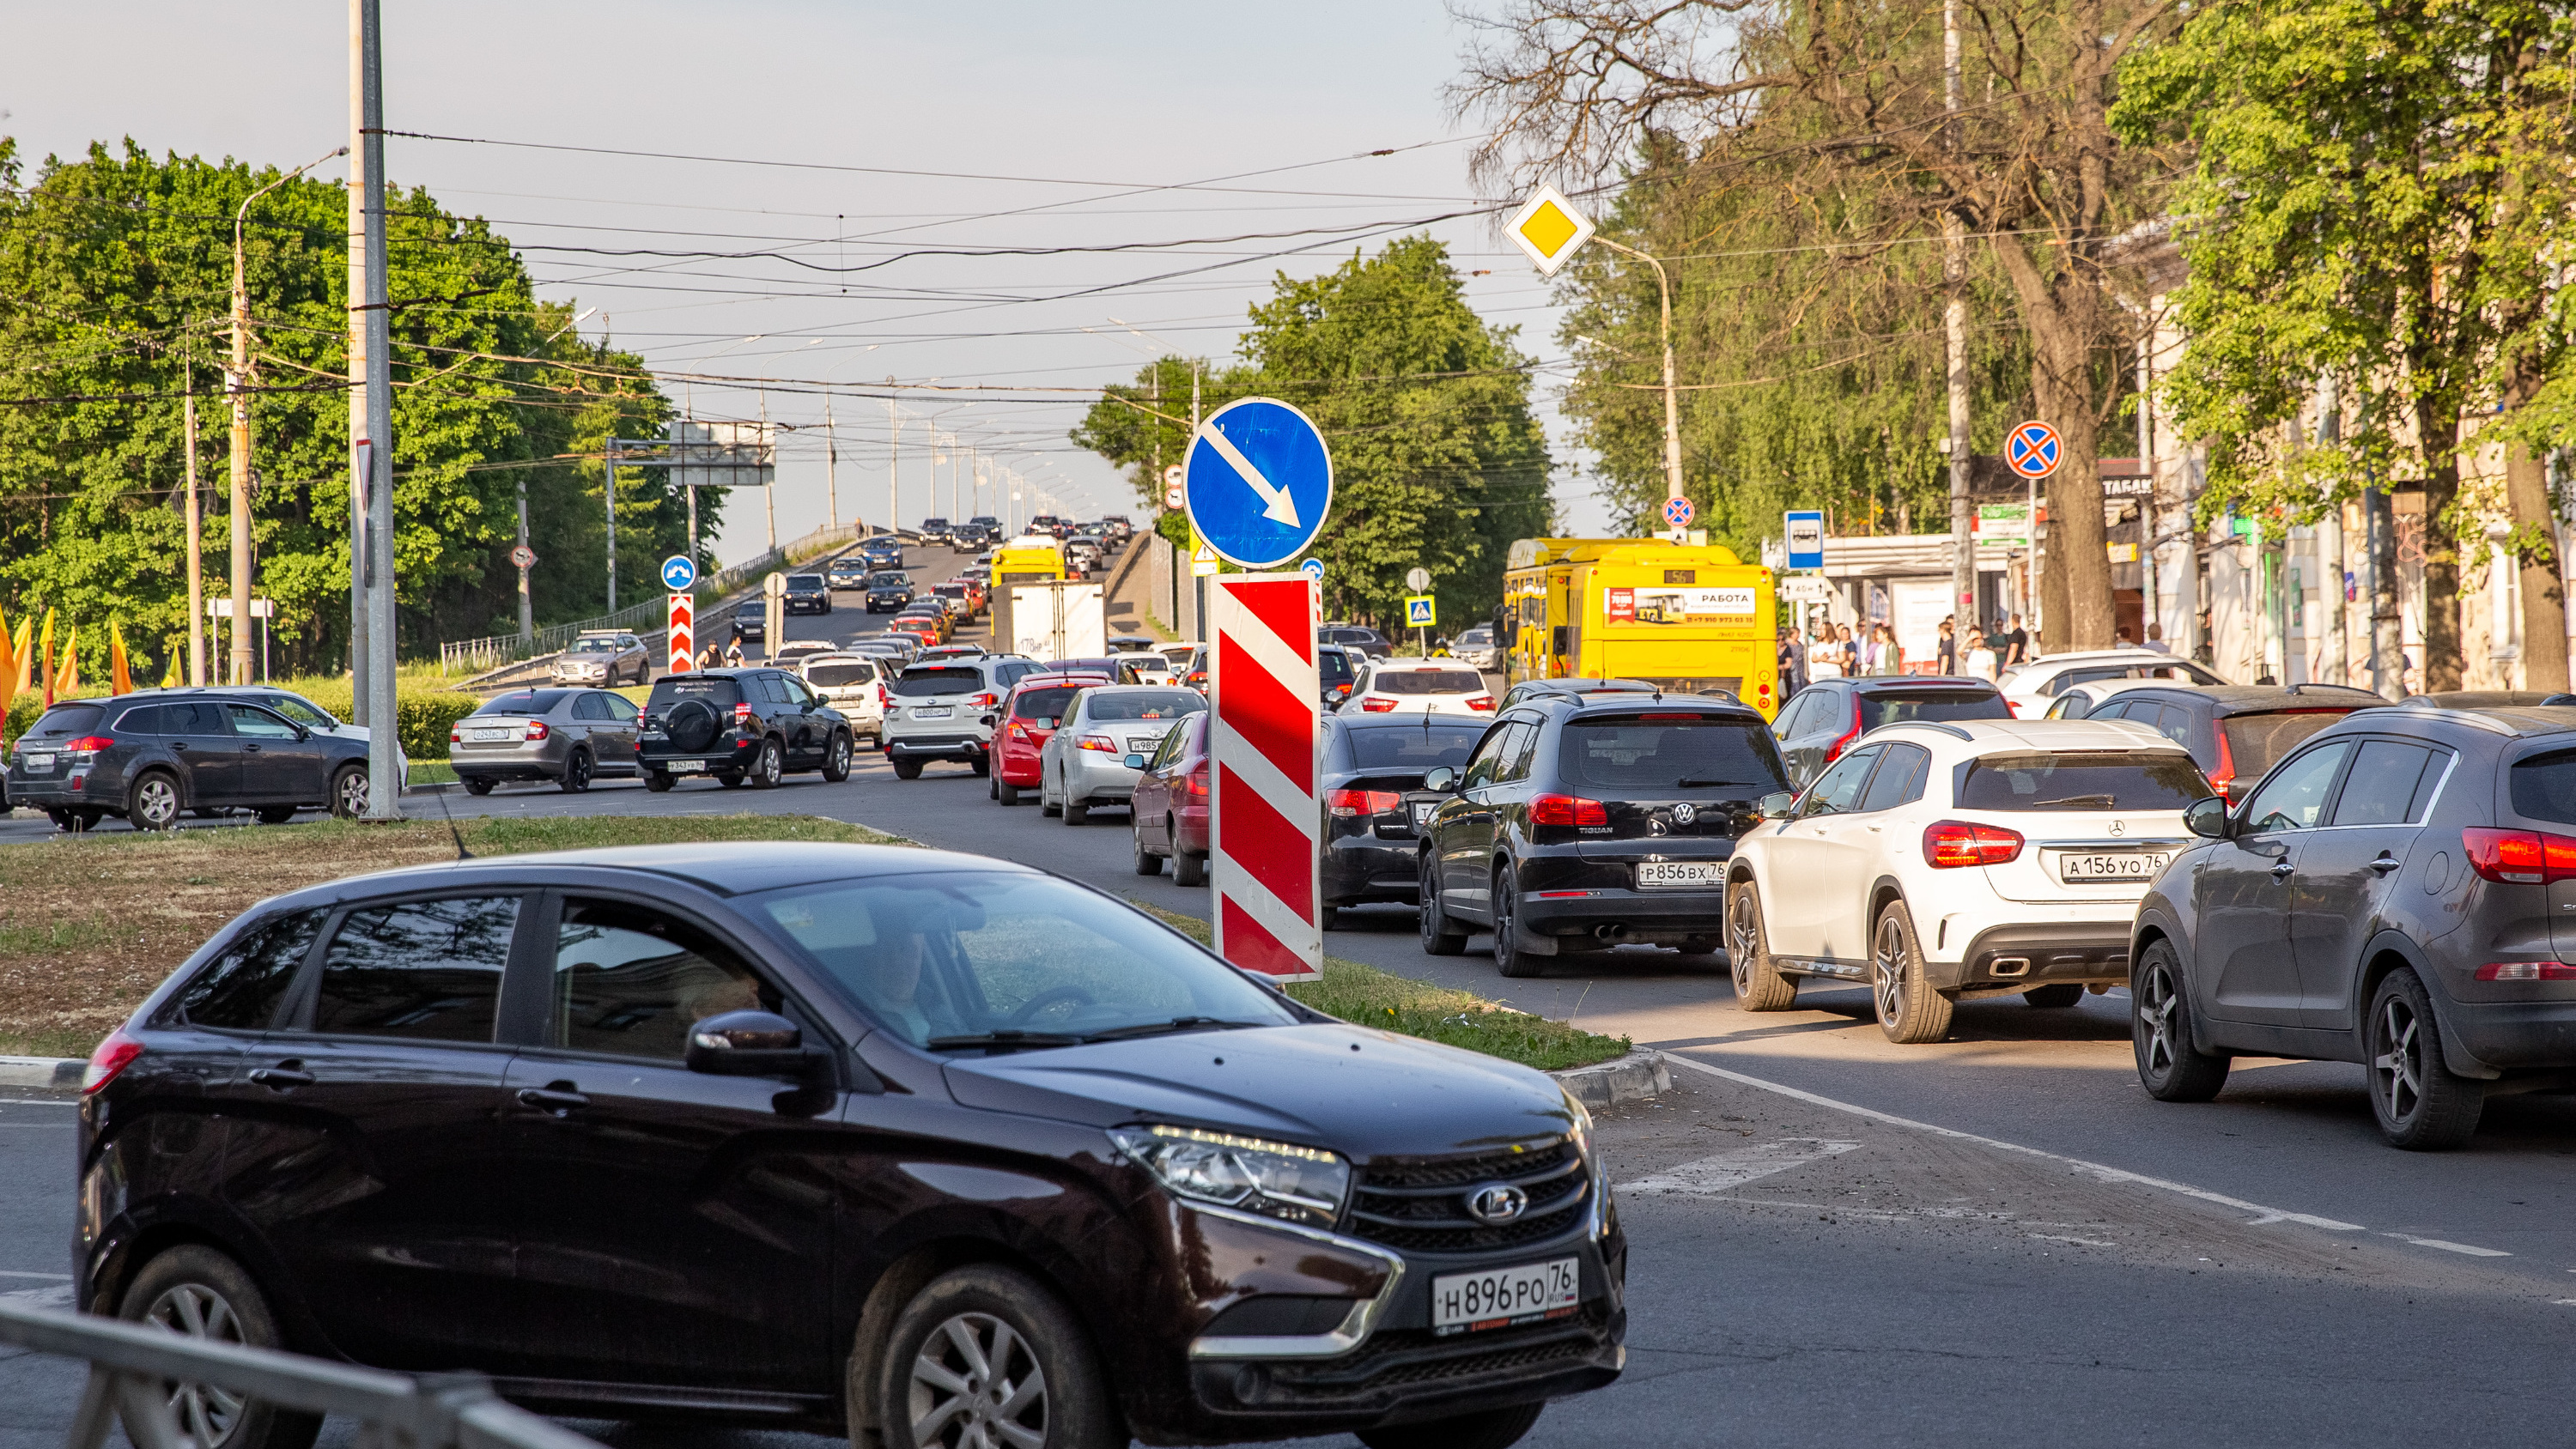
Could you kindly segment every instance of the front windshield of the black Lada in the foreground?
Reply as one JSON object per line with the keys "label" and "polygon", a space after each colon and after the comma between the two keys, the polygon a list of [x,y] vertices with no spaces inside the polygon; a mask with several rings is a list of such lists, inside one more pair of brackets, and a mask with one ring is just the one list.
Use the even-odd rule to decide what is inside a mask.
{"label": "front windshield of the black Lada in the foreground", "polygon": [[1170,927],[1048,875],[896,875],[757,901],[835,988],[917,1048],[1296,1022]]}

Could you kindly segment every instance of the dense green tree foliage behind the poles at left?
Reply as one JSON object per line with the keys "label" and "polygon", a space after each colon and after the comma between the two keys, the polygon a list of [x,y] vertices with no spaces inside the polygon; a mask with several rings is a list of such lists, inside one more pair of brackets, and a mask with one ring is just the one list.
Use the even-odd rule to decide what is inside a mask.
{"label": "dense green tree foliage behind the poles at left", "polygon": [[[152,157],[134,142],[49,157],[31,183],[0,139],[0,602],[185,638],[183,394],[196,391],[206,592],[229,592],[229,288],[234,211],[276,167]],[[505,237],[425,190],[386,193],[394,571],[404,649],[515,628],[515,497],[528,486],[541,618],[605,602],[608,435],[662,427],[641,360],[587,345],[536,301]],[[242,226],[252,314],[252,540],[281,669],[348,651],[348,201],[289,180]],[[533,463],[533,466],[518,466]],[[621,551],[685,548],[659,471],[626,471]],[[716,507],[714,494],[701,510]],[[701,520],[711,533],[711,520]],[[631,589],[641,595],[641,589]],[[160,649],[149,649],[160,654]]]}

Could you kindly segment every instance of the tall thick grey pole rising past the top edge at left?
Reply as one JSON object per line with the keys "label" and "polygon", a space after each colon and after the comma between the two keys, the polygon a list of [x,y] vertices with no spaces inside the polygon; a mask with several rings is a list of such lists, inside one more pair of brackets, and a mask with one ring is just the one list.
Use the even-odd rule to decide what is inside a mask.
{"label": "tall thick grey pole rising past the top edge at left", "polygon": [[[402,739],[394,721],[394,342],[384,291],[384,26],[358,0],[361,160],[366,165],[366,818],[402,818]],[[234,602],[234,607],[242,607]]]}

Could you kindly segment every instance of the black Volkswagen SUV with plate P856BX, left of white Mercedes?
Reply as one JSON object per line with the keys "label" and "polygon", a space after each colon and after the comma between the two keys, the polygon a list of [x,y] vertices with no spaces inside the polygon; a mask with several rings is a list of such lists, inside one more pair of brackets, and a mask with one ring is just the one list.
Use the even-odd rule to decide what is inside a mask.
{"label": "black Volkswagen SUV with plate P856BX, left of white Mercedes", "polygon": [[1726,862],[1788,790],[1762,715],[1708,695],[1540,695],[1422,780],[1422,950],[1502,975],[1618,945],[1718,950]]}

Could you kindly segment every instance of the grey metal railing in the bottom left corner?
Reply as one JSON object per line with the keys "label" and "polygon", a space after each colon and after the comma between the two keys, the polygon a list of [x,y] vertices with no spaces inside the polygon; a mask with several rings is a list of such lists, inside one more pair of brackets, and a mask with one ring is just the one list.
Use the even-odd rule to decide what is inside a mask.
{"label": "grey metal railing in the bottom left corner", "polygon": [[204,1449],[170,1408],[173,1382],[355,1418],[374,1449],[600,1449],[502,1403],[482,1374],[389,1374],[13,1302],[0,1302],[0,1343],[90,1364],[64,1449],[106,1449],[118,1418],[134,1449]]}

